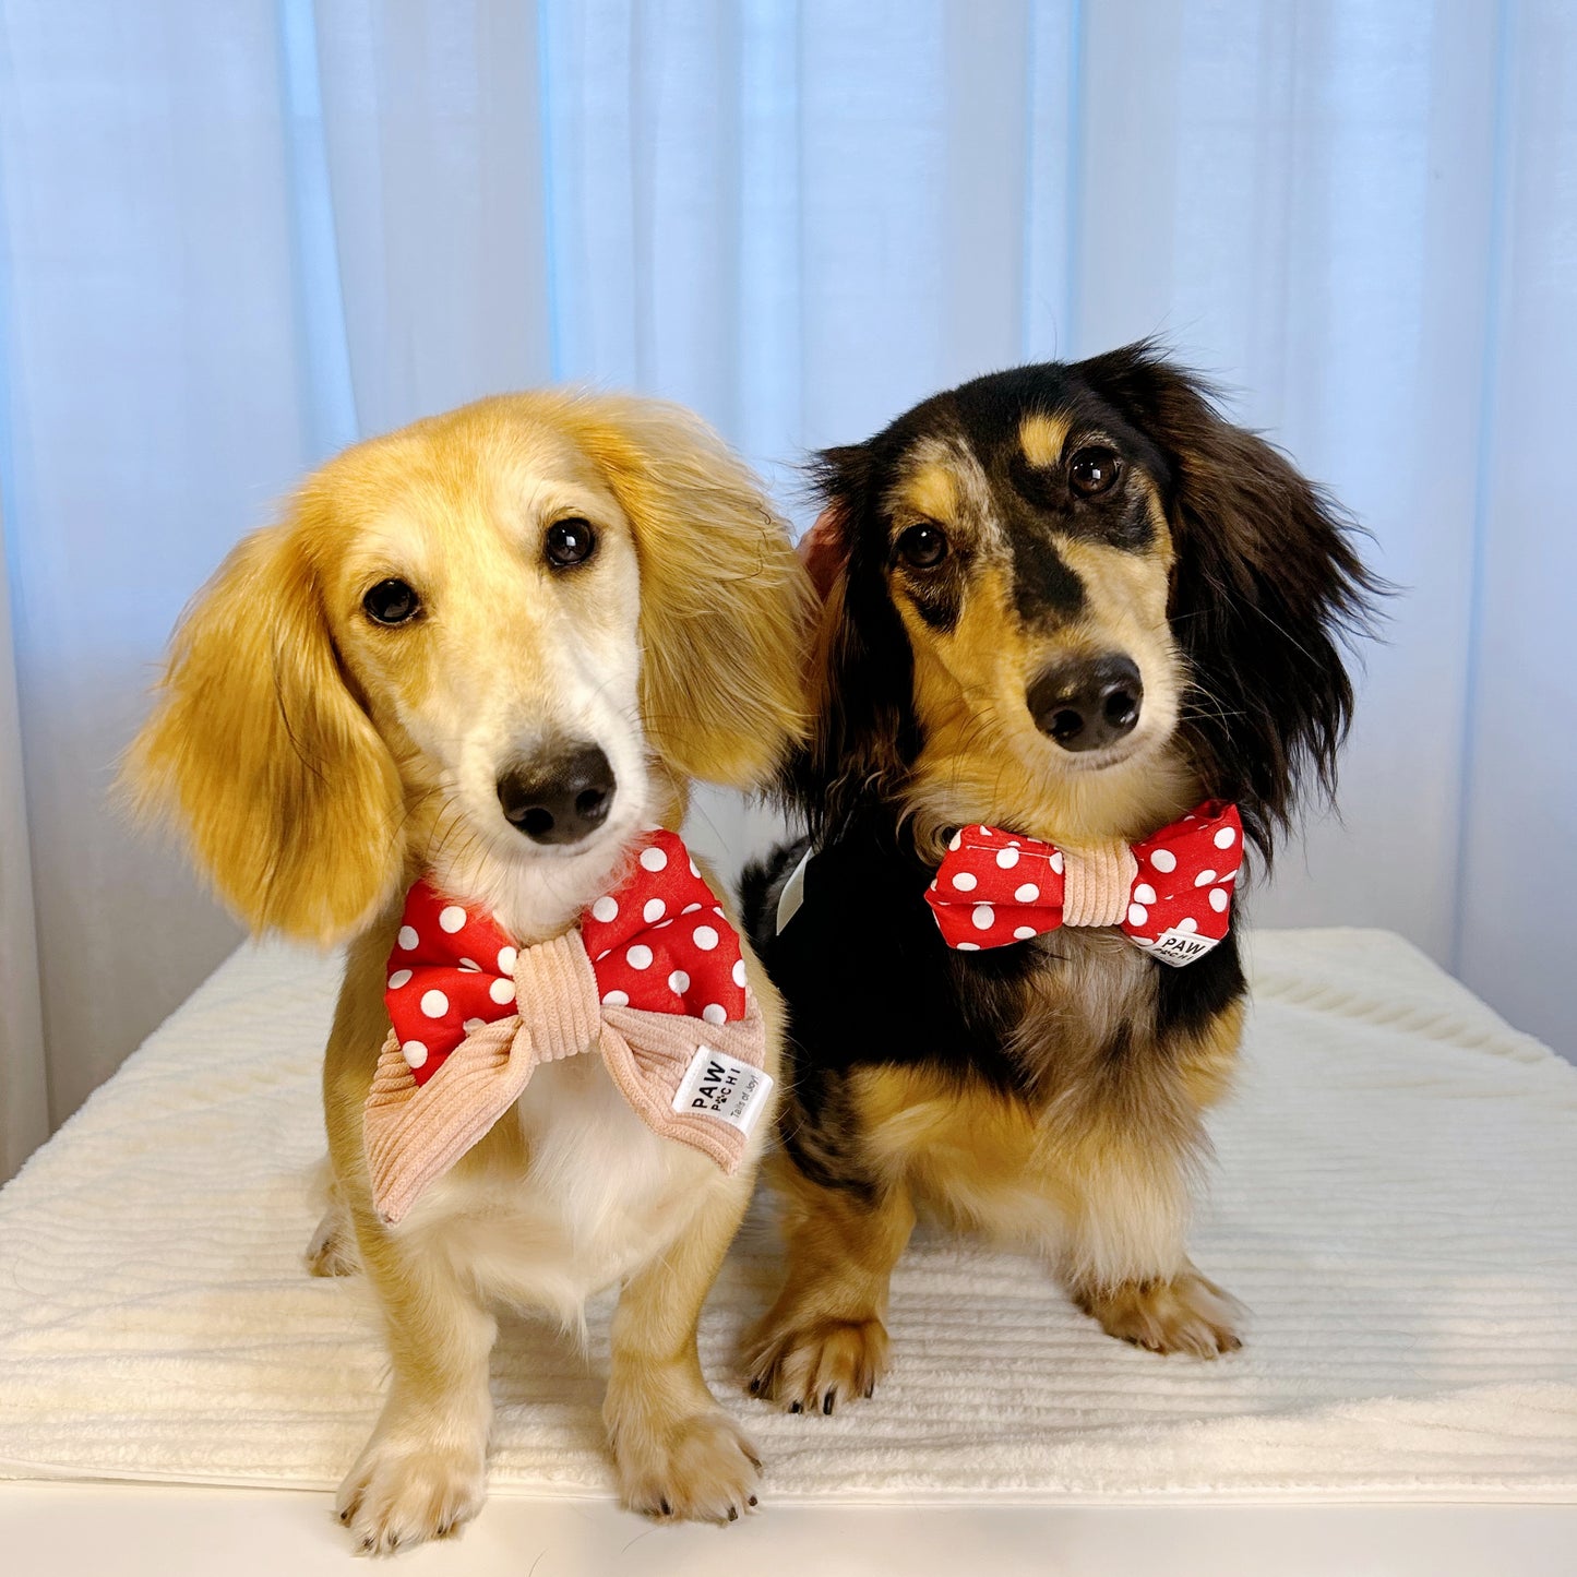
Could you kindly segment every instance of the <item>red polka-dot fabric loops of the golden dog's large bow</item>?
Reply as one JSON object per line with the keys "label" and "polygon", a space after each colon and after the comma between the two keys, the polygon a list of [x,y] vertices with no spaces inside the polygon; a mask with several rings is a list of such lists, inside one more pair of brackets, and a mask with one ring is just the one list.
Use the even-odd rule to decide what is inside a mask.
{"label": "red polka-dot fabric loops of the golden dog's large bow", "polygon": [[[631,877],[582,916],[580,938],[607,1008],[729,1023],[746,1014],[740,938],[669,831],[648,836]],[[708,913],[705,923],[684,915]],[[405,897],[385,1003],[416,1083],[476,1028],[516,1011],[514,941],[486,913],[418,882]],[[478,964],[476,960],[484,960]]]}

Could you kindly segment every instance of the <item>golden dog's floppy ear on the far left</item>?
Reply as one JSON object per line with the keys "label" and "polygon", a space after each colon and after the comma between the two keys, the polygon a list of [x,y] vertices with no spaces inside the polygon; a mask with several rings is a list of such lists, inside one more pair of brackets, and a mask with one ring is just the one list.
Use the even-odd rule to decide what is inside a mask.
{"label": "golden dog's floppy ear on the far left", "polygon": [[257,932],[333,943],[390,899],[399,774],[347,689],[300,520],[248,538],[199,593],[121,782]]}

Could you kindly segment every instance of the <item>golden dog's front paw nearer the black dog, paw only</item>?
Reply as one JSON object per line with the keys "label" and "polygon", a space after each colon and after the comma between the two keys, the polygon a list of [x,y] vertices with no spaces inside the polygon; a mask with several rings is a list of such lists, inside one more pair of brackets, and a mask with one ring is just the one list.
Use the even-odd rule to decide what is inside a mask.
{"label": "golden dog's front paw nearer the black dog, paw only", "polygon": [[648,1517],[736,1522],[755,1504],[762,1459],[727,1413],[628,1426],[613,1456],[624,1504]]}

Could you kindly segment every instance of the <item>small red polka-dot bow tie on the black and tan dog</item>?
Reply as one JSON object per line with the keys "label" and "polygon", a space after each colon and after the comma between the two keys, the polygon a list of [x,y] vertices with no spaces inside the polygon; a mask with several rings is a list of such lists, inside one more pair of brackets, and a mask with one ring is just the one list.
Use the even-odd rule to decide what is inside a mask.
{"label": "small red polka-dot bow tie on the black and tan dog", "polygon": [[949,948],[978,953],[1058,926],[1120,926],[1164,964],[1203,957],[1232,923],[1243,864],[1238,807],[1206,800],[1139,844],[1058,848],[995,826],[948,845],[926,902]]}

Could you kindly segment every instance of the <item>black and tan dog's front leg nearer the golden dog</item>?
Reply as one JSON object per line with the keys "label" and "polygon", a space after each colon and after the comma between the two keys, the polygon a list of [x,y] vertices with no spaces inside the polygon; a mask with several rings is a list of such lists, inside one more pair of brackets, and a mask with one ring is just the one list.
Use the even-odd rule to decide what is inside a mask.
{"label": "black and tan dog's front leg nearer the golden dog", "polygon": [[831,1413],[867,1397],[886,1370],[888,1282],[915,1206],[888,1184],[874,1199],[823,1189],[790,1162],[776,1162],[788,1200],[788,1282],[751,1337],[751,1391],[790,1413]]}

